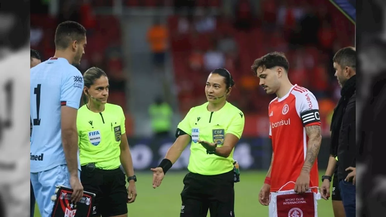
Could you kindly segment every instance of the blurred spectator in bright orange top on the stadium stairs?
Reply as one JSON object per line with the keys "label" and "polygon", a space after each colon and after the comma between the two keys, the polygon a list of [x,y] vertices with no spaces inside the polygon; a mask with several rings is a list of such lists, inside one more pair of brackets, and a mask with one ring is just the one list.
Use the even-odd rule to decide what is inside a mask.
{"label": "blurred spectator in bright orange top on the stadium stairs", "polygon": [[147,32],[147,41],[151,46],[154,65],[163,69],[168,44],[168,30],[165,25],[161,24],[159,17],[154,18],[153,26]]}

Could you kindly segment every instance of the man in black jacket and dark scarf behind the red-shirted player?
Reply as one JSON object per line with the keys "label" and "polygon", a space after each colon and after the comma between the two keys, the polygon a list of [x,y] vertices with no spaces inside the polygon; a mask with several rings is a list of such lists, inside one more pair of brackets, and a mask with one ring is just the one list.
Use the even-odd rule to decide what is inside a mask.
{"label": "man in black jacket and dark scarf behind the red-shirted player", "polygon": [[[340,192],[346,217],[355,217],[356,181],[356,50],[340,49],[333,58],[335,77],[342,87],[341,98],[335,107],[331,121],[329,173],[336,171],[334,179]],[[333,162],[337,159],[339,163]],[[337,168],[335,168],[335,164]],[[336,177],[337,176],[337,177]],[[325,180],[328,180],[327,183]],[[327,199],[331,174],[322,176],[322,197]],[[328,185],[327,185],[328,184]],[[335,211],[335,210],[334,210]],[[336,212],[335,212],[336,213]]]}

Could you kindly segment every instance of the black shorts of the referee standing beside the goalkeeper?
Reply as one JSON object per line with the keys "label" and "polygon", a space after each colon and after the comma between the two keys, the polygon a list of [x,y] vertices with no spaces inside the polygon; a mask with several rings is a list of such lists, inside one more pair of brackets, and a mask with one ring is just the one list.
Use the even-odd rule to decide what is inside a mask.
{"label": "black shorts of the referee standing beside the goalkeeper", "polygon": [[80,181],[87,192],[96,194],[93,216],[115,216],[127,213],[127,189],[125,174],[120,168],[93,171],[81,167]]}

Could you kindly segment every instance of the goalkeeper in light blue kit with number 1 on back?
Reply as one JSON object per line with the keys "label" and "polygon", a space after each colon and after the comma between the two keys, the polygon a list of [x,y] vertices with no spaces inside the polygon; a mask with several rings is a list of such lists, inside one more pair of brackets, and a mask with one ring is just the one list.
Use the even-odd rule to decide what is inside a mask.
{"label": "goalkeeper in light blue kit with number 1 on back", "polygon": [[73,65],[85,46],[85,27],[63,22],[55,32],[54,57],[30,70],[30,177],[42,217],[51,217],[56,185],[73,188],[71,202],[83,196],[76,115],[84,82]]}

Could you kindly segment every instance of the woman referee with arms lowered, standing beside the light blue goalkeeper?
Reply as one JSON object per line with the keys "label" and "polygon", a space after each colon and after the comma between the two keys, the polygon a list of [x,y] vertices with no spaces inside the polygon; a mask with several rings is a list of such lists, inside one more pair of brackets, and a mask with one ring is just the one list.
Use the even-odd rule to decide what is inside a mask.
{"label": "woman referee with arms lowered, standing beside the light blue goalkeeper", "polygon": [[[119,105],[107,103],[108,78],[97,67],[83,74],[85,105],[78,110],[80,180],[93,192],[93,216],[127,217],[127,203],[137,196],[133,163],[125,133],[125,115]],[[128,176],[126,178],[120,165]]]}

